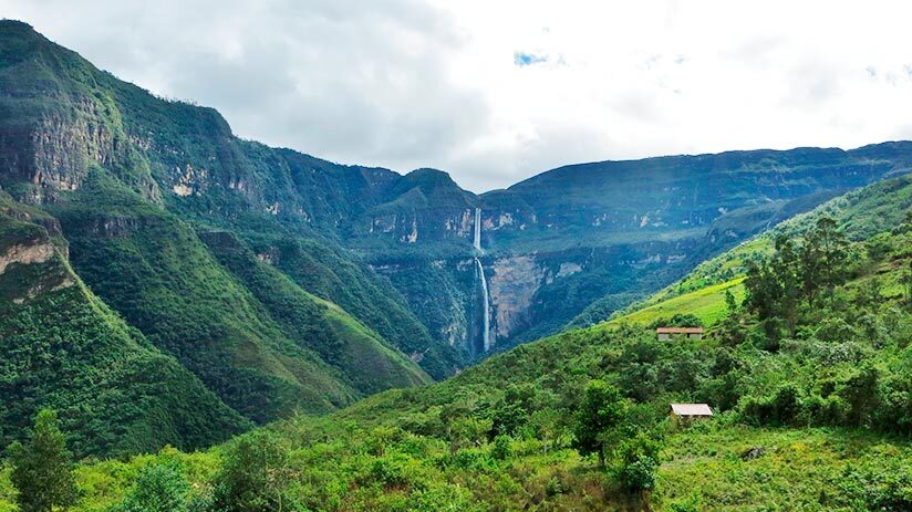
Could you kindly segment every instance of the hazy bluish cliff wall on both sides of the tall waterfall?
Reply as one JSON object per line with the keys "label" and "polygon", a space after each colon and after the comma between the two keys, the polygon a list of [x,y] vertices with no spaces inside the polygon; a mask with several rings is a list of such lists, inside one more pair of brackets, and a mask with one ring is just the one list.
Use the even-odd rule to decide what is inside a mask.
{"label": "hazy bluish cliff wall on both sides of the tall waterfall", "polygon": [[583,312],[583,323],[604,318],[835,194],[908,171],[910,157],[912,145],[889,143],[591,164],[504,191],[464,192],[435,208],[412,189],[371,210],[398,221],[373,217],[373,230],[344,240],[391,279],[436,337],[477,355],[484,312],[466,258],[474,252],[475,208],[481,209],[490,335],[505,347],[550,334]]}

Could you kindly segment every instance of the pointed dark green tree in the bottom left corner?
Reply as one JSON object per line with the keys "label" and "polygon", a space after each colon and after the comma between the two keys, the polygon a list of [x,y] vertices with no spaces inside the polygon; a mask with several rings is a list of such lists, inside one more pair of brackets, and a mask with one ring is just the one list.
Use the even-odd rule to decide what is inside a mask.
{"label": "pointed dark green tree in the bottom left corner", "polygon": [[21,512],[66,510],[76,502],[66,437],[60,431],[53,410],[38,414],[28,442],[10,447],[10,480],[18,491],[15,501]]}

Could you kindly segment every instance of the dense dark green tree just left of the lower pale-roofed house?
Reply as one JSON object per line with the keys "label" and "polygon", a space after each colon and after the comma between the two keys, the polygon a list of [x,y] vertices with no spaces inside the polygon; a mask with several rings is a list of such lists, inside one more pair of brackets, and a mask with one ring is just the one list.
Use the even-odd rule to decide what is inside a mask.
{"label": "dense dark green tree just left of the lower pale-roofed house", "polygon": [[599,467],[604,468],[605,437],[622,424],[626,411],[628,403],[618,388],[604,380],[591,380],[577,410],[573,448],[583,456],[598,453]]}

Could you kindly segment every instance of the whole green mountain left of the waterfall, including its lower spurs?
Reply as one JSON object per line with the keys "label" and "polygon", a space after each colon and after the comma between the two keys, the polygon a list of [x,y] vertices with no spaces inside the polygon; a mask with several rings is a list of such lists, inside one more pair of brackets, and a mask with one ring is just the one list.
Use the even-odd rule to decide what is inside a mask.
{"label": "whole green mountain left of the waterfall, including its lower spurs", "polygon": [[[35,258],[20,254],[17,233],[24,228],[3,232],[3,358],[14,367],[53,343],[53,361],[4,373],[7,436],[21,436],[37,410],[51,406],[81,431],[81,453],[195,448],[251,421],[327,412],[365,394],[428,382],[397,348],[426,349],[426,328],[332,240],[307,228],[292,232],[242,203],[222,202],[207,217],[172,205],[179,202],[175,192],[163,196],[160,155],[186,151],[195,164],[208,151],[232,158],[241,147],[259,147],[230,137],[213,111],[157,100],[10,21],[0,22],[0,92],[4,201],[9,211],[53,226],[69,251],[60,264],[54,257],[48,261],[55,265],[21,267],[22,258]],[[162,128],[160,153],[136,138],[151,126]],[[213,234],[227,229],[236,234]],[[314,283],[315,293],[345,283],[344,293],[324,296],[364,321],[261,261],[266,252],[251,248],[266,243],[289,248],[288,263],[298,262],[301,283]],[[50,258],[41,252],[50,247],[32,251]],[[75,322],[77,312],[85,323]],[[112,362],[123,369],[105,373]],[[454,365],[429,367],[445,374]],[[68,386],[69,378],[79,386]],[[110,390],[92,401],[92,383]]]}

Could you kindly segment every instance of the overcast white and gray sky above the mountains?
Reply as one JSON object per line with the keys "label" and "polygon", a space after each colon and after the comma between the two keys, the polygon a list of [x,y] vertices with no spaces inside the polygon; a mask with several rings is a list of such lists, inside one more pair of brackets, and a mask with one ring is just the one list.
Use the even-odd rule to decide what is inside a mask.
{"label": "overcast white and gray sky above the mountains", "polygon": [[99,67],[333,161],[563,164],[912,138],[912,2],[0,0]]}

